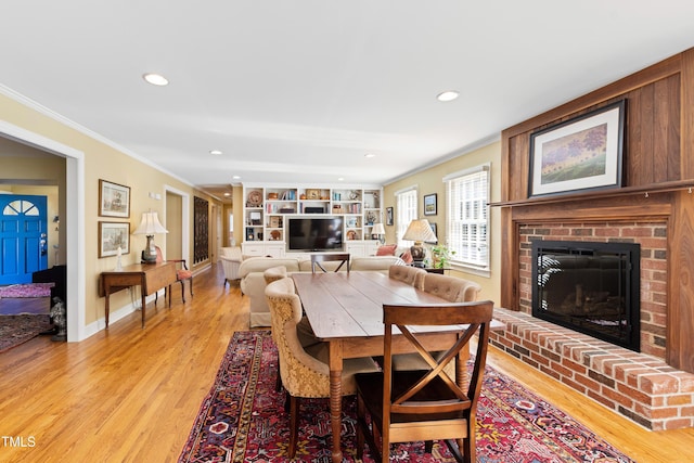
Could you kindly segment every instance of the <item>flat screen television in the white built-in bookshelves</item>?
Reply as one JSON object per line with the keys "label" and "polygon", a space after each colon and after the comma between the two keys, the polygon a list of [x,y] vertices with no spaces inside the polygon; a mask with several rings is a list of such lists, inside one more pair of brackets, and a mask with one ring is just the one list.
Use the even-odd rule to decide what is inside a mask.
{"label": "flat screen television in the white built-in bookshelves", "polygon": [[342,249],[343,229],[343,217],[290,217],[287,219],[287,249]]}

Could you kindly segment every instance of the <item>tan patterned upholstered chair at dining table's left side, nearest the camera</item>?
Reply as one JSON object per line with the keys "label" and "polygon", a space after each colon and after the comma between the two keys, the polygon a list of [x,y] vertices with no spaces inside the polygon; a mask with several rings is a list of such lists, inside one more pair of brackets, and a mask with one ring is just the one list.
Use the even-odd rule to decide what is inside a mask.
{"label": "tan patterned upholstered chair at dining table's left side, nearest the camera", "polygon": [[[265,294],[270,307],[273,336],[278,345],[280,376],[288,396],[287,453],[288,458],[293,459],[298,441],[300,399],[330,397],[327,344],[320,343],[311,346],[311,349],[301,345],[297,331],[297,324],[301,320],[301,301],[291,278],[270,283]],[[352,396],[357,393],[356,373],[375,371],[378,369],[371,358],[346,359],[342,375],[343,396]]]}

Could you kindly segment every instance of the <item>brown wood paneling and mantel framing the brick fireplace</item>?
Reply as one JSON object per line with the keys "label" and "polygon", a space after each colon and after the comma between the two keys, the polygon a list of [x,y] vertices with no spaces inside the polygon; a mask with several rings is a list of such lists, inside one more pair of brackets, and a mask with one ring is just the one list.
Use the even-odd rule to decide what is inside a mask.
{"label": "brown wood paneling and mantel framing the brick fireplace", "polygon": [[[528,198],[530,134],[627,101],[622,188]],[[665,218],[667,361],[694,372],[694,49],[502,132],[502,307],[518,308],[518,228],[537,220]],[[648,201],[651,198],[652,201]]]}

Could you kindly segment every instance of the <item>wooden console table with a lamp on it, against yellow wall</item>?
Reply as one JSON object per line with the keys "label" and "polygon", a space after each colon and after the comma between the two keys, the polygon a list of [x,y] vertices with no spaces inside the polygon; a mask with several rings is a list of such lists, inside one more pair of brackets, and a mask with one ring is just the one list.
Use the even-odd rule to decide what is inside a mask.
{"label": "wooden console table with a lamp on it, against yellow wall", "polygon": [[141,287],[142,327],[144,327],[146,296],[168,286],[167,294],[169,297],[169,307],[171,307],[171,284],[176,283],[176,262],[133,263],[125,266],[123,270],[101,272],[99,283],[99,296],[106,297],[106,327],[108,327],[111,295],[132,286]]}

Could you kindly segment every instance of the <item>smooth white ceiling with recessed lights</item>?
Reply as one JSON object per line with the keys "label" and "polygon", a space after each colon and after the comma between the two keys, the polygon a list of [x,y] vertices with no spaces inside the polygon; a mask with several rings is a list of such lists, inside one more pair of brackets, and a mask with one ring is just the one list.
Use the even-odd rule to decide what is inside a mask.
{"label": "smooth white ceiling with recessed lights", "polygon": [[191,185],[386,183],[694,47],[694,1],[23,0],[0,43],[0,91]]}

